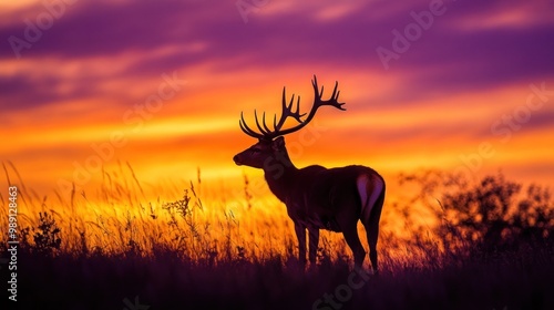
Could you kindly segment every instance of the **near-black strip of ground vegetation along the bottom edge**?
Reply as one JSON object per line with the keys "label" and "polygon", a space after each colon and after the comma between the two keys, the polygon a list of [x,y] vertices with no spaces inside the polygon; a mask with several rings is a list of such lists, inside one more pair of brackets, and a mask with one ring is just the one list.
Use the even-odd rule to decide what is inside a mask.
{"label": "near-black strip of ground vegetation along the bottom edge", "polygon": [[[20,309],[553,309],[554,250],[475,255],[444,267],[393,266],[378,277],[334,264],[208,266],[165,254],[20,256]],[[349,280],[350,279],[350,280]],[[353,286],[352,286],[353,283]],[[137,298],[137,299],[135,299]],[[6,299],[4,299],[6,300]],[[320,300],[318,302],[318,300]],[[7,308],[2,308],[7,309]],[[8,308],[17,309],[17,308]]]}

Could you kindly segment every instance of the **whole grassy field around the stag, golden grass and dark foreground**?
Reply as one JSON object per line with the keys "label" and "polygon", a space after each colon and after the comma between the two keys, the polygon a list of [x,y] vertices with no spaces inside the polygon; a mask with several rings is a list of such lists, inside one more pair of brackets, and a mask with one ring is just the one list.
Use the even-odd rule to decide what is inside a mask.
{"label": "whole grassy field around the stag, golden grass and dark foreground", "polygon": [[[4,172],[20,189],[21,299],[35,309],[121,309],[122,300],[135,296],[151,309],[312,309],[326,294],[336,294],[351,272],[349,248],[339,234],[327,231],[321,232],[318,266],[304,270],[285,207],[267,188],[253,186],[249,176],[222,186],[203,180],[198,169],[195,182],[151,185],[131,165],[120,164],[85,189],[39,196],[13,165],[4,164]],[[500,218],[500,236],[511,236],[505,240],[517,246],[491,247],[484,238],[486,223],[475,221],[482,230],[471,230],[473,226],[455,221],[456,213],[479,218],[455,197],[496,193],[510,184],[489,179],[491,190],[479,192],[489,187],[452,187],[456,182],[461,179],[438,172],[388,180],[392,190],[394,183],[413,190],[386,202],[381,273],[352,290],[341,309],[554,306],[546,293],[554,276],[554,224],[542,221],[547,229],[540,231],[541,240],[520,240],[517,231],[535,231],[526,228],[536,218],[525,217],[531,226],[520,228],[526,230],[512,229],[517,217]],[[510,196],[510,202],[548,216],[550,192],[527,193],[532,195],[517,202]],[[488,202],[496,202],[491,195],[485,195],[492,197]],[[471,204],[481,206],[475,199]],[[0,225],[8,227],[6,196],[0,206]],[[3,256],[7,235],[0,240]],[[339,308],[321,303],[314,309]]]}

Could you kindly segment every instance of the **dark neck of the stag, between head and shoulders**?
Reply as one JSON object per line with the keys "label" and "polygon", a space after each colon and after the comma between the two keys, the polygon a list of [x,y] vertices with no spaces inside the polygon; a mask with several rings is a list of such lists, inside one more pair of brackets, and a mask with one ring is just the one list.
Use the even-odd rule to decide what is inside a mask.
{"label": "dark neck of the stag, between head and shoulders", "polygon": [[287,200],[294,180],[297,178],[298,168],[293,164],[287,151],[275,154],[264,167],[264,174],[271,193],[281,202]]}

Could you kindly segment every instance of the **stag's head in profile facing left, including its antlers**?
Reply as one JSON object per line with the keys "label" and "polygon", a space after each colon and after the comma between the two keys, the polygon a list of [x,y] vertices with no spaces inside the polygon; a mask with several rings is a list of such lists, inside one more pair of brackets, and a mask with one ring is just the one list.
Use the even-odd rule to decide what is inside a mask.
{"label": "stag's head in profile facing left, including its antlers", "polygon": [[[329,100],[321,100],[321,96],[324,95],[324,86],[321,86],[321,91],[319,91],[319,87],[317,85],[317,79],[316,75],[314,75],[314,80],[311,81],[311,85],[314,86],[314,104],[311,106],[310,112],[308,113],[308,116],[302,121],[302,117],[306,115],[306,113],[300,114],[300,96],[298,96],[296,101],[296,110],[293,111],[293,105],[295,102],[295,94],[293,94],[290,101],[287,103],[287,95],[286,95],[286,89],[283,87],[283,107],[281,107],[281,115],[279,117],[279,121],[277,121],[277,115],[274,115],[274,124],[273,124],[273,130],[269,128],[269,126],[266,123],[266,113],[264,112],[261,115],[261,122],[258,120],[258,115],[256,110],[254,110],[254,117],[256,121],[256,126],[258,127],[259,132],[256,132],[252,130],[247,124],[246,121],[244,120],[244,115],[240,112],[240,121],[239,121],[239,126],[240,130],[254,137],[257,138],[258,142],[254,144],[253,146],[248,147],[247,149],[238,153],[233,157],[235,163],[237,165],[246,165],[250,166],[254,168],[261,168],[261,169],[267,169],[270,166],[271,161],[277,161],[280,162],[281,164],[285,164],[286,166],[293,166],[288,154],[287,149],[285,147],[285,140],[284,135],[297,132],[301,130],[304,126],[306,126],[316,115],[317,110],[320,106],[324,105],[331,105],[335,106],[339,110],[345,111],[342,105],[345,103],[339,103],[339,94],[340,91],[337,91],[338,87],[338,82],[335,82],[335,89],[332,91],[331,97]],[[287,118],[293,118],[298,124],[296,126],[293,126],[290,128],[283,128],[283,125],[287,121]]]}

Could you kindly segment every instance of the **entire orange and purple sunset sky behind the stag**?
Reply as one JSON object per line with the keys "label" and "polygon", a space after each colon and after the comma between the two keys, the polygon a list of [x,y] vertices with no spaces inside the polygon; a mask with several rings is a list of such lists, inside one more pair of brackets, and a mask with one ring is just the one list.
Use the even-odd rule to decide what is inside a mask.
{"label": "entire orange and purple sunset sky behind the stag", "polygon": [[[234,182],[283,86],[325,107],[297,166],[554,175],[554,4],[45,0],[0,4],[0,159],[48,194],[129,162],[141,180]],[[2,184],[4,179],[2,177]],[[6,189],[1,189],[6,190]]]}

